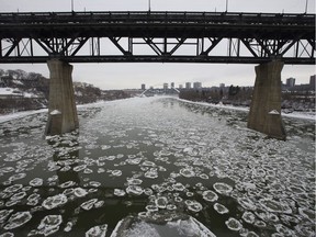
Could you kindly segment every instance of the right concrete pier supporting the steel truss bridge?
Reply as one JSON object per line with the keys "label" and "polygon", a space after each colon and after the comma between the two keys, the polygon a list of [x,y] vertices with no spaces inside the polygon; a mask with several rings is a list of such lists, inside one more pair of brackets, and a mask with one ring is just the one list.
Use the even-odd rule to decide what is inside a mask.
{"label": "right concrete pier supporting the steel truss bridge", "polygon": [[247,125],[278,139],[286,138],[281,117],[283,65],[280,60],[273,60],[256,67],[256,82]]}

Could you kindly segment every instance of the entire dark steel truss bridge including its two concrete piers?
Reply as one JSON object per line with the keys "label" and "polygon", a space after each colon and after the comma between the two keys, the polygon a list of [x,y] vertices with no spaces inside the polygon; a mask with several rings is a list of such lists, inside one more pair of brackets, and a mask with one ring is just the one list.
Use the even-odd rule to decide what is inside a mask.
{"label": "entire dark steel truss bridge including its two concrete piers", "polygon": [[248,127],[285,139],[284,64],[315,65],[315,14],[0,13],[0,64],[47,63],[46,134],[79,126],[69,63],[259,64]]}

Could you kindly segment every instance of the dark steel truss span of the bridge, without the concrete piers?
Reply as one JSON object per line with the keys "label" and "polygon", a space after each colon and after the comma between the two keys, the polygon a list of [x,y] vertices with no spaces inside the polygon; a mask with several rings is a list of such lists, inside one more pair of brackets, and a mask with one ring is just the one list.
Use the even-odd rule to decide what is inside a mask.
{"label": "dark steel truss span of the bridge, without the concrete piers", "polygon": [[315,64],[315,14],[0,13],[0,63]]}

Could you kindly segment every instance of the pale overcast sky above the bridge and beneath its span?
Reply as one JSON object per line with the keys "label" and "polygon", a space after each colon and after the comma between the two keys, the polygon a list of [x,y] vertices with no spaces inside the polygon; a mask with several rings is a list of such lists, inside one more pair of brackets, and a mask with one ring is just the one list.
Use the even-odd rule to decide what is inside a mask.
{"label": "pale overcast sky above the bridge and beneath its span", "polygon": [[[149,0],[74,0],[75,11],[147,11]],[[150,0],[151,11],[225,11],[226,0]],[[307,1],[307,12],[315,13],[315,0]],[[0,12],[70,11],[71,0],[0,0]],[[306,0],[228,0],[232,12],[305,12]],[[222,64],[74,64],[75,81],[93,83],[101,89],[140,88],[140,83],[201,81],[203,87],[253,86],[256,65]],[[2,69],[23,69],[49,76],[46,65],[7,65]],[[315,66],[284,66],[282,80],[296,78],[308,83]]]}

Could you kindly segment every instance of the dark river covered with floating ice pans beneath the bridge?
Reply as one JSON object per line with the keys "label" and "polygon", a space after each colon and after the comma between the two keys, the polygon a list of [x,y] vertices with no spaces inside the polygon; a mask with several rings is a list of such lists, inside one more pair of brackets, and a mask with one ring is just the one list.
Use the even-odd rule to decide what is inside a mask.
{"label": "dark river covered with floating ice pans beneath the bridge", "polygon": [[315,121],[282,142],[172,98],[78,113],[63,136],[46,113],[0,124],[0,237],[315,236]]}

